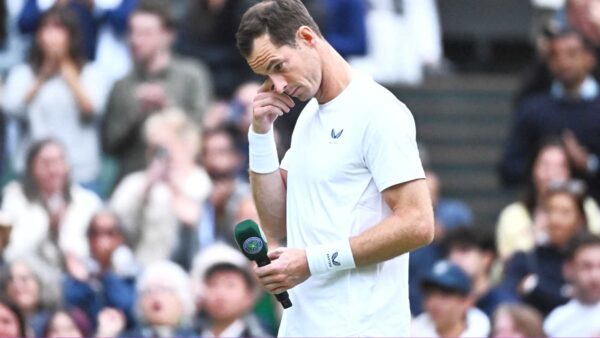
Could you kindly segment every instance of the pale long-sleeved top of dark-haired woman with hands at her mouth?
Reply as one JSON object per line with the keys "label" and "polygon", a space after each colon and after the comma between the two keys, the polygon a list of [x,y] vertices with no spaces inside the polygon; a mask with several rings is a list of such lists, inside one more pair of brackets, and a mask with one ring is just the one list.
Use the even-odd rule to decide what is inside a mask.
{"label": "pale long-sleeved top of dark-haired woman with hands at her mouth", "polygon": [[72,176],[78,183],[94,181],[100,173],[100,139],[98,121],[104,110],[108,87],[103,75],[88,64],[81,72],[81,83],[94,107],[97,119],[81,121],[75,95],[66,80],[55,75],[46,80],[35,98],[27,104],[25,96],[36,81],[28,64],[11,70],[6,81],[3,107],[7,114],[28,122],[28,132],[16,149],[16,170],[24,170],[24,158],[29,145],[47,137],[58,139],[67,150]]}

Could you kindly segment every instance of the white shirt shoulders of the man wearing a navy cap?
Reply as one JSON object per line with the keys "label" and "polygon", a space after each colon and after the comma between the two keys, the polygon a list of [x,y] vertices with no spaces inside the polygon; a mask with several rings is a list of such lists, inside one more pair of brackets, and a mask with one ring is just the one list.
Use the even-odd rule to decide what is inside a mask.
{"label": "white shirt shoulders of the man wearing a navy cap", "polygon": [[[465,330],[460,337],[487,337],[490,334],[490,320],[481,310],[471,308],[467,312]],[[423,312],[413,319],[410,330],[412,337],[439,337],[435,323],[427,312]]]}

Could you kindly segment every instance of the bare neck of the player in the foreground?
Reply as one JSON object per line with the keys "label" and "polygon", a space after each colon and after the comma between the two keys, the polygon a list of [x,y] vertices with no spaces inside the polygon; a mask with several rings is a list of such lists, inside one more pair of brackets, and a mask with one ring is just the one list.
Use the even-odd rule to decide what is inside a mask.
{"label": "bare neck of the player in the foreground", "polygon": [[326,44],[321,50],[323,74],[321,87],[315,95],[319,104],[327,103],[348,87],[352,80],[352,68],[331,45]]}

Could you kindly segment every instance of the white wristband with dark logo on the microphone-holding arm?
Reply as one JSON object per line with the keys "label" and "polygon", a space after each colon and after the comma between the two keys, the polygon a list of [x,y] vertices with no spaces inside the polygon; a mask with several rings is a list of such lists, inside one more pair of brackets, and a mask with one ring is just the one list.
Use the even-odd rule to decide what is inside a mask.
{"label": "white wristband with dark logo on the microphone-holding arm", "polygon": [[306,248],[308,269],[312,275],[356,267],[349,240],[321,244]]}

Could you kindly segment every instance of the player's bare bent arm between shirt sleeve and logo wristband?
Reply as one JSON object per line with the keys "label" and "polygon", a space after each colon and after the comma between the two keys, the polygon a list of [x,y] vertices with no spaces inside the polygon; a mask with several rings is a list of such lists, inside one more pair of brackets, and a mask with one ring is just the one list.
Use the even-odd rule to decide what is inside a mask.
{"label": "player's bare bent arm between shirt sleeve and logo wristband", "polygon": [[356,266],[394,258],[433,240],[433,207],[424,179],[394,185],[382,195],[392,214],[350,239]]}

